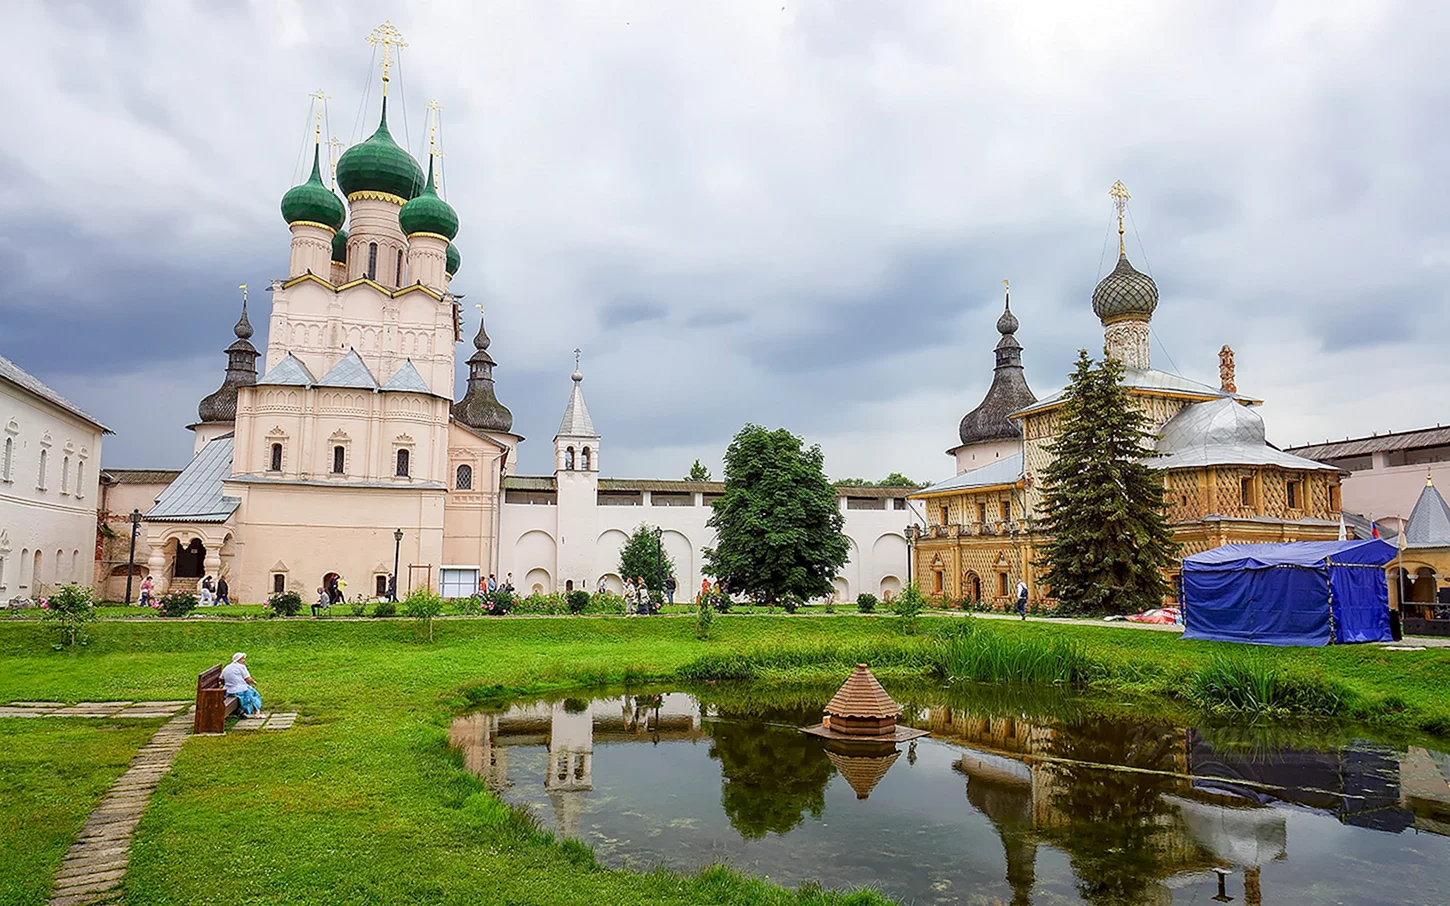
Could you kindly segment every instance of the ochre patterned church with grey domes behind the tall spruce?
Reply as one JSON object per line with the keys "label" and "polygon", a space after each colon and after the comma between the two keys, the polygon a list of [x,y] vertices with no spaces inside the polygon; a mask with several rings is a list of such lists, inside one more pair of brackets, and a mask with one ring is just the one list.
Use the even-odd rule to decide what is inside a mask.
{"label": "ochre patterned church with grey domes behind the tall spruce", "polygon": [[[1264,436],[1260,400],[1241,394],[1232,351],[1219,352],[1219,386],[1153,368],[1150,323],[1159,287],[1128,261],[1122,242],[1127,190],[1114,186],[1118,262],[1092,294],[1103,326],[1103,354],[1124,364],[1124,386],[1156,435],[1154,468],[1167,486],[1167,518],[1182,554],[1221,544],[1324,541],[1340,531],[1340,470],[1286,454]],[[982,404],[963,419],[951,454],[957,474],[916,494],[927,525],[912,529],[912,573],[928,594],[948,602],[1006,606],[1018,581],[1032,602],[1051,597],[1038,575],[1043,506],[1038,475],[1066,399],[1031,397],[1015,332],[1003,312],[996,374]],[[992,413],[979,417],[977,413]],[[1000,413],[1000,415],[998,415]]]}

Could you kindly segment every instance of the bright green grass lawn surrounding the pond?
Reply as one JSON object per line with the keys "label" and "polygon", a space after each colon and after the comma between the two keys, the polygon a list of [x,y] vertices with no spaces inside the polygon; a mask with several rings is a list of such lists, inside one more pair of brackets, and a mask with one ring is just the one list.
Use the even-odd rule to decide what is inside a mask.
{"label": "bright green grass lawn surrounding the pond", "polygon": [[[1173,693],[1222,652],[1244,651],[1163,632],[976,623],[1028,647],[1067,639],[1090,658],[1092,681],[1115,693]],[[932,674],[947,645],[937,629],[966,625],[931,616],[922,635],[905,636],[892,616],[728,615],[699,641],[693,619],[478,618],[441,620],[425,644],[405,620],[145,619],[97,623],[87,648],[57,652],[52,628],[12,620],[0,623],[0,702],[186,699],[199,671],[246,651],[265,707],[302,713],[289,731],[186,744],[138,828],[132,903],[877,903],[870,892],[786,892],[724,870],[600,868],[584,847],[538,832],[484,791],[448,749],[447,725],[470,703],[521,691],[682,677],[834,681],[857,660],[883,674]],[[1450,733],[1450,649],[1251,655],[1337,684],[1353,705],[1346,713],[1406,731],[1443,722]],[[48,732],[35,723],[0,719],[0,731]],[[22,741],[33,760],[22,762],[36,778],[75,764],[86,783],[57,774],[54,793],[80,820],[146,733],[117,744],[100,722],[71,732],[77,742]],[[96,739],[84,747],[125,751],[87,761],[87,735]],[[28,784],[0,790],[0,810],[20,823],[59,807]],[[55,845],[36,871],[54,871]],[[14,873],[0,878],[13,878],[0,880],[10,897],[0,902],[39,902]]]}

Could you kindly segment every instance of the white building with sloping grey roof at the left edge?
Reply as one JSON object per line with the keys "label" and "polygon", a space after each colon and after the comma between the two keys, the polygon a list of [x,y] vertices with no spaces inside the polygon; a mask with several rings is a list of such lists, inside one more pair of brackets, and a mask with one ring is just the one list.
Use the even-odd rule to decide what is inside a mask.
{"label": "white building with sloping grey roof at the left edge", "polygon": [[0,600],[88,586],[104,425],[0,358]]}

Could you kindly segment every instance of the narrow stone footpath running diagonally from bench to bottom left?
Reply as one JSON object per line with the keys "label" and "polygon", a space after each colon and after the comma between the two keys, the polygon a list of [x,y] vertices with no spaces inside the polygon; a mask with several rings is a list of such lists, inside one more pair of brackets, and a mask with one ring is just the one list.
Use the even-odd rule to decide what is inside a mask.
{"label": "narrow stone footpath running diagonally from bench to bottom left", "polygon": [[[71,713],[65,716],[97,715]],[[187,710],[167,720],[157,731],[157,735],[141,747],[136,757],[130,760],[130,767],[86,819],[80,836],[65,852],[65,861],[61,863],[61,870],[55,876],[51,906],[99,906],[117,902],[120,880],[126,877],[126,864],[130,861],[130,835],[141,823],[141,815],[146,810],[146,803],[151,802],[151,793],[171,770],[171,760],[181,751],[181,744],[186,742],[190,731],[191,713]]]}

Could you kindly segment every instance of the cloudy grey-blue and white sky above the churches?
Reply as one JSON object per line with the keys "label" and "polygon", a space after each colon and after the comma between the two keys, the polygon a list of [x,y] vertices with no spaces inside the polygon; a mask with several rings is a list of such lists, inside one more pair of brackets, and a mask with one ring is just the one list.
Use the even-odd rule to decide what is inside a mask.
{"label": "cloudy grey-blue and white sky above the churches", "polygon": [[236,284],[284,275],[307,94],[341,139],[371,132],[384,19],[409,43],[394,135],[422,151],[444,106],[454,288],[470,335],[487,304],[523,471],[581,346],[605,474],[718,474],[745,422],[819,442],[835,477],[951,474],[1002,278],[1038,396],[1101,349],[1119,178],[1156,365],[1217,383],[1232,345],[1280,445],[1447,419],[1443,4],[7,10],[0,354],[116,431],[107,465],[186,462]]}

